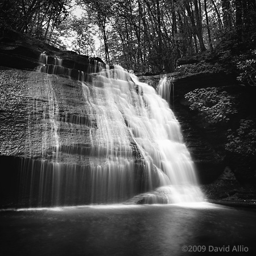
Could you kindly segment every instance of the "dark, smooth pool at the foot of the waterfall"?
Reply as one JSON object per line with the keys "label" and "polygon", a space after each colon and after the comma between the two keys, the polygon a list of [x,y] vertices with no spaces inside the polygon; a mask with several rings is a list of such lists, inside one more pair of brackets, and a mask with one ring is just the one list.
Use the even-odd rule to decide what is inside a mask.
{"label": "dark, smooth pool at the foot of the waterfall", "polygon": [[1,255],[256,255],[253,209],[216,204],[0,211]]}

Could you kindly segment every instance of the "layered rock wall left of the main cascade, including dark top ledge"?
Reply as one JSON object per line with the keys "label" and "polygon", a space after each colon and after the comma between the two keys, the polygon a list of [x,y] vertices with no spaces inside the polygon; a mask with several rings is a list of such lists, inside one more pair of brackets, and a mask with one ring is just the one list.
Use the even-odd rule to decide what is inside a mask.
{"label": "layered rock wall left of the main cascade, including dark top ledge", "polygon": [[[90,74],[98,72],[102,66],[104,63],[99,58],[89,59],[34,39],[25,39],[12,31],[1,31],[0,160],[5,167],[0,173],[2,206],[25,205],[19,197],[28,201],[27,195],[35,189],[31,187],[31,192],[23,191],[24,195],[21,195],[22,176],[25,180],[29,176],[28,179],[35,180],[38,186],[36,180],[48,184],[49,188],[44,191],[49,191],[49,195],[45,193],[43,201],[60,198],[59,192],[56,195],[52,189],[60,185],[54,177],[48,177],[53,175],[51,170],[58,170],[58,164],[63,164],[67,173],[75,174],[73,178],[65,171],[60,174],[67,183],[74,183],[73,188],[78,187],[76,180],[89,179],[88,175],[81,175],[88,167],[88,126],[93,125],[93,120],[84,108],[86,93],[79,79],[89,82]],[[39,69],[42,72],[38,72]],[[61,134],[61,141],[57,141],[57,133]],[[73,145],[68,143],[71,138]],[[61,148],[57,146],[59,143]],[[65,162],[61,162],[63,158]],[[48,176],[39,177],[39,170],[42,173],[49,170]],[[59,187],[58,190],[63,189]],[[38,192],[33,193],[35,197],[39,196]],[[72,189],[70,195],[68,191],[65,193],[69,201],[75,195],[81,197],[81,192],[72,192]],[[33,205],[33,197],[29,200]],[[85,202],[87,199],[77,200]]]}

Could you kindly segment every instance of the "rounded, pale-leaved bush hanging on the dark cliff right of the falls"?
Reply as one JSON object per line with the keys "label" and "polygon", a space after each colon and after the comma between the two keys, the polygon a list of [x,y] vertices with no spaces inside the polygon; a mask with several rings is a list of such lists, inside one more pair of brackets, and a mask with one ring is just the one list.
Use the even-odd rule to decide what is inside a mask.
{"label": "rounded, pale-leaved bush hanging on the dark cliff right of the falls", "polygon": [[203,114],[209,123],[225,123],[237,113],[234,97],[218,88],[196,89],[185,94],[189,108]]}

